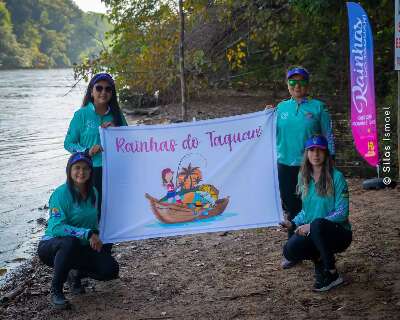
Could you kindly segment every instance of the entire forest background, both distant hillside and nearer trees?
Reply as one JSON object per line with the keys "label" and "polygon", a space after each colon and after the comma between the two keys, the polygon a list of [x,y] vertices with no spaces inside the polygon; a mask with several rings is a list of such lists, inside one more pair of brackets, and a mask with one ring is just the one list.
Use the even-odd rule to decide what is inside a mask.
{"label": "entire forest background, both distant hillside and nearer trees", "polygon": [[[103,2],[107,21],[100,14],[82,13],[70,0],[0,0],[0,64],[3,68],[49,68],[76,63],[77,79],[99,71],[112,73],[121,100],[158,92],[164,103],[179,101],[178,1]],[[382,142],[383,108],[389,108],[391,137],[382,143],[392,151],[394,169],[394,2],[364,0],[360,4],[374,36],[378,134]],[[343,151],[339,164],[351,169],[364,163],[354,150],[348,126],[345,1],[185,0],[183,5],[189,101],[229,88],[269,93],[266,102],[276,103],[287,97],[287,67],[303,65],[312,74],[313,96],[329,105]],[[391,174],[395,177],[397,170]]]}

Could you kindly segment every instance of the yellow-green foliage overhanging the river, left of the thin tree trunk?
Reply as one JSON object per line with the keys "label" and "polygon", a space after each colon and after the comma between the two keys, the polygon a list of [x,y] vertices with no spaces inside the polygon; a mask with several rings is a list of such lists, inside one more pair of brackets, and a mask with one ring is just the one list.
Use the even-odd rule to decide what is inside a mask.
{"label": "yellow-green foliage overhanging the river, left of the thin tree trunk", "polygon": [[[114,29],[111,50],[85,65],[91,72],[102,66],[118,77],[119,86],[141,92],[167,90],[177,79],[178,29],[174,1],[104,1],[112,5],[109,15]],[[173,49],[172,49],[173,48]],[[87,69],[76,68],[85,76]]]}

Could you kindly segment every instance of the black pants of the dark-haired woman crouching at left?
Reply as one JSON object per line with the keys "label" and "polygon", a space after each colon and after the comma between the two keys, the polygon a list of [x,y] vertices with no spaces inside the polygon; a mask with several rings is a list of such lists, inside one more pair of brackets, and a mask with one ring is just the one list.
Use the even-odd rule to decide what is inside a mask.
{"label": "black pants of the dark-haired woman crouching at left", "polygon": [[53,292],[62,292],[68,272],[77,269],[82,276],[107,281],[118,278],[117,261],[103,249],[100,252],[82,245],[76,237],[56,237],[39,242],[40,260],[54,268],[51,287]]}

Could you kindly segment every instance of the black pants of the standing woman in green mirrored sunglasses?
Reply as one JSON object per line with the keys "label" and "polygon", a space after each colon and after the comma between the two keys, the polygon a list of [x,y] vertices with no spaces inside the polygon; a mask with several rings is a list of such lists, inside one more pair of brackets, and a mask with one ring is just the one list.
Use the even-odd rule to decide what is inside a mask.
{"label": "black pants of the standing woman in green mirrored sunglasses", "polygon": [[[296,194],[297,177],[300,167],[287,166],[278,163],[278,180],[279,191],[281,193],[282,208],[287,213],[287,218],[292,221],[293,218],[301,211],[301,199]],[[293,231],[288,232],[289,238]]]}

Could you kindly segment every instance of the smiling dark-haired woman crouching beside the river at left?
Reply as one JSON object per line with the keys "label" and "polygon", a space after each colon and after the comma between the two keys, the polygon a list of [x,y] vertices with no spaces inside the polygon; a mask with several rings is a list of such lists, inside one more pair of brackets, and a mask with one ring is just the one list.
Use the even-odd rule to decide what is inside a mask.
{"label": "smiling dark-haired woman crouching beside the river at left", "polygon": [[50,197],[48,226],[38,246],[40,260],[54,268],[51,302],[58,309],[69,307],[63,293],[67,280],[72,293],[83,293],[82,278],[106,281],[118,278],[119,272],[118,263],[104,252],[99,238],[91,158],[74,153],[66,171],[67,182]]}

